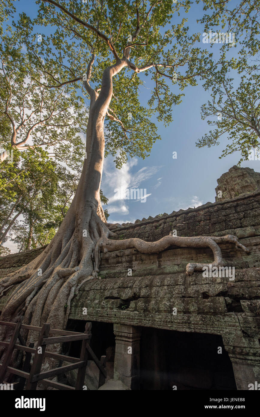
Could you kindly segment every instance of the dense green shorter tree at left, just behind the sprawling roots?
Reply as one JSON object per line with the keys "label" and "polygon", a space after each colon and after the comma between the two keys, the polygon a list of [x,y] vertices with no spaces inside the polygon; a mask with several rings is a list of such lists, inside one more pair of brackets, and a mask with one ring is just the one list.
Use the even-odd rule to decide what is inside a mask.
{"label": "dense green shorter tree at left, just behind the sprawling roots", "polygon": [[[16,156],[18,156],[17,154],[18,152]],[[11,179],[6,175],[7,168],[3,170],[5,175],[2,175],[1,178],[3,195],[0,198],[0,204],[5,210],[2,212],[4,216],[2,216],[0,224],[0,244],[6,240],[10,231],[13,230],[17,235],[18,231],[23,230],[28,232],[25,232],[27,237],[23,236],[24,247],[30,249],[35,224],[40,223],[43,226],[44,219],[55,203],[58,178],[55,173],[56,163],[50,160],[47,152],[41,148],[37,151],[30,149],[21,152],[19,162],[19,166],[12,163],[11,175],[9,174]],[[6,167],[9,164],[5,161],[0,168],[4,165]],[[16,173],[17,171],[18,173]],[[11,198],[7,198],[7,196],[11,196]],[[10,200],[12,201],[11,205]],[[6,207],[6,202],[8,207]],[[17,219],[20,215],[23,216],[24,226],[22,229],[17,228]]]}

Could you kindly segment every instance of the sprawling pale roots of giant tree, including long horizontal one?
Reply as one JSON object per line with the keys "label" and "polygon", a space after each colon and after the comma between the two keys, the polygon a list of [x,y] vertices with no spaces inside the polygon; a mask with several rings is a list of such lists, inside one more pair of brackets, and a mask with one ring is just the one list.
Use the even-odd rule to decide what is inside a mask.
{"label": "sprawling pale roots of giant tree, including long horizontal one", "polygon": [[[24,315],[24,324],[42,326],[49,323],[51,328],[65,329],[70,314],[70,303],[80,286],[90,279],[98,279],[100,251],[115,251],[136,248],[142,253],[158,253],[169,246],[180,247],[210,247],[214,254],[213,266],[224,266],[222,254],[218,244],[234,243],[237,248],[248,252],[233,235],[223,237],[195,236],[179,237],[165,236],[156,242],[145,242],[142,239],[111,240],[110,236],[117,236],[110,231],[96,213],[84,217],[84,221],[77,221],[81,227],[65,224],[45,251],[30,264],[0,279],[0,296],[15,286],[13,293],[7,300],[0,319],[2,321],[17,322]],[[209,264],[189,263],[186,273],[202,271]],[[0,339],[9,341],[10,332],[6,327],[0,327]],[[23,337],[30,342],[36,342],[37,332],[24,331]],[[2,348],[2,351],[3,352]],[[60,345],[50,345],[50,350],[60,351]],[[18,358],[14,357],[13,362]],[[51,364],[52,362],[52,364]],[[43,369],[55,365],[53,360],[45,361]]]}

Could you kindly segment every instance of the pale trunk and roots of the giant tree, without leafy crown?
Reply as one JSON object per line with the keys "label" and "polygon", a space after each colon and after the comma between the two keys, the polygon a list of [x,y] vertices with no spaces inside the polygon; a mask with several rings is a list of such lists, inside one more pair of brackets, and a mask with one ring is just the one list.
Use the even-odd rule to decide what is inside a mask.
{"label": "pale trunk and roots of the giant tree, without leafy crown", "polygon": [[[183,247],[210,247],[215,265],[223,265],[221,251],[217,243],[231,241],[238,243],[235,236],[221,237],[178,237],[165,236],[158,242],[141,239],[110,240],[117,236],[110,231],[97,215],[100,203],[100,183],[102,177],[105,138],[104,119],[112,97],[112,77],[126,66],[124,59],[104,70],[100,93],[85,88],[90,94],[90,111],[87,125],[86,153],[82,174],[75,196],[65,218],[46,249],[28,265],[13,274],[0,279],[0,296],[14,288],[1,314],[2,321],[17,321],[25,316],[24,324],[42,326],[49,323],[51,328],[64,329],[70,314],[70,303],[80,286],[88,279],[97,279],[100,251],[113,251],[135,247],[144,253],[155,253],[171,245]],[[88,66],[91,73],[91,65]],[[90,76],[89,76],[90,78]],[[88,78],[88,79],[89,79]],[[188,264],[187,273],[202,270],[208,264]],[[40,272],[39,272],[40,271]],[[18,286],[14,287],[15,284]],[[65,308],[66,306],[66,308]],[[35,332],[24,334],[27,342],[35,342]],[[0,338],[9,340],[10,333],[1,328]],[[59,350],[60,345],[50,349]],[[52,359],[45,361],[43,369],[56,365]]]}

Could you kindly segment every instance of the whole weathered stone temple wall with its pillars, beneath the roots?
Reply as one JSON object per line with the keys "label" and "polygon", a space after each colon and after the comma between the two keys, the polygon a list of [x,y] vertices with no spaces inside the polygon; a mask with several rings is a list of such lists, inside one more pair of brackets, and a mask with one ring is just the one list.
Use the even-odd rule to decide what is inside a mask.
{"label": "whole weathered stone temple wall with its pillars, beneath the roots", "polygon": [[[213,261],[207,248],[173,246],[160,254],[141,254],[135,249],[102,253],[100,279],[80,288],[72,300],[70,319],[114,324],[115,378],[128,388],[138,389],[141,329],[150,327],[221,335],[237,387],[248,389],[249,383],[260,381],[260,190],[137,220],[115,233],[119,239],[154,241],[173,229],[178,236],[235,234],[250,253],[232,244],[220,245],[226,265],[235,267],[235,280],[204,278],[201,272],[185,274],[188,262]],[[28,263],[43,249],[0,258],[0,276]],[[83,307],[87,316],[82,314]],[[125,351],[129,346],[134,352],[131,357]]]}

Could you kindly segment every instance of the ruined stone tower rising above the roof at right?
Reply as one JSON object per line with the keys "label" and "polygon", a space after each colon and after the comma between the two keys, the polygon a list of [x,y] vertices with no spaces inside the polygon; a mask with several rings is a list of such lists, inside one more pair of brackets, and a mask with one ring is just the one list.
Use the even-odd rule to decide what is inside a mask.
{"label": "ruined stone tower rising above the roof at right", "polygon": [[[217,182],[215,201],[223,201],[241,194],[252,193],[260,188],[260,172],[255,172],[252,168],[239,168],[234,165],[228,172],[222,174]],[[222,191],[221,198],[218,198],[219,191]]]}

